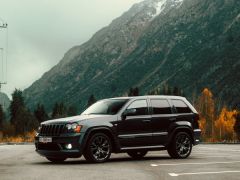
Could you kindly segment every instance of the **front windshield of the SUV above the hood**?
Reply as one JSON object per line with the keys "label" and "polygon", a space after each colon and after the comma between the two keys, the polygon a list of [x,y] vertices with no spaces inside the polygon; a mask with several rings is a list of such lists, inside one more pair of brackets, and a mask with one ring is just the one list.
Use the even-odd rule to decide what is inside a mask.
{"label": "front windshield of the SUV above the hood", "polygon": [[114,115],[126,104],[128,99],[108,99],[96,102],[87,108],[82,115],[88,114],[108,114]]}

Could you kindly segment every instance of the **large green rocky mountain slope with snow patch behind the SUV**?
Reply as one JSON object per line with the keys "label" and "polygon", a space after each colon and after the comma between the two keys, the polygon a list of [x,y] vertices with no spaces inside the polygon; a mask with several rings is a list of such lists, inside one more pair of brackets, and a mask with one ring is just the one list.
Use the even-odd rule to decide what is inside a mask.
{"label": "large green rocky mountain slope with snow patch behind the SUV", "polygon": [[187,97],[210,88],[228,106],[240,102],[240,1],[145,0],[71,48],[24,90],[27,104],[63,101],[82,110],[98,99],[142,94],[163,84]]}

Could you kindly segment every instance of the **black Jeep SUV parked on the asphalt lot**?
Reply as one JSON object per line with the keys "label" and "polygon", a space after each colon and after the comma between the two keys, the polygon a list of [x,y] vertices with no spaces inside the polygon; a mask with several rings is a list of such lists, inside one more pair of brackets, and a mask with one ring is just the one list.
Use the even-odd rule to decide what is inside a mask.
{"label": "black Jeep SUV parked on the asphalt lot", "polygon": [[187,158],[199,142],[199,115],[184,97],[137,96],[104,99],[81,115],[41,123],[36,151],[52,162],[77,158],[107,161],[111,153],[142,158],[167,150]]}

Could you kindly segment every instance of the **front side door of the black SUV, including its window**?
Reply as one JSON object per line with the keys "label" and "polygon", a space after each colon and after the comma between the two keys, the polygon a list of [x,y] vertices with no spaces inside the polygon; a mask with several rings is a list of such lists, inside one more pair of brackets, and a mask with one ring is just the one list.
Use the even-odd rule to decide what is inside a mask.
{"label": "front side door of the black SUV, including its window", "polygon": [[122,147],[147,146],[152,142],[151,116],[147,99],[137,99],[129,104],[126,110],[136,109],[127,115],[118,126],[118,138]]}

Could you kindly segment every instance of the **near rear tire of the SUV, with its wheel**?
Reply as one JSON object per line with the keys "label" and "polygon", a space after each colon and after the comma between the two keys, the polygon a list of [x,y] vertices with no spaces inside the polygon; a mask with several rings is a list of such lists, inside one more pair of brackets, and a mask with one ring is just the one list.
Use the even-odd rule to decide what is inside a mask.
{"label": "near rear tire of the SUV, with its wheel", "polygon": [[167,151],[175,159],[185,159],[192,151],[192,140],[188,133],[178,132],[172,139]]}

